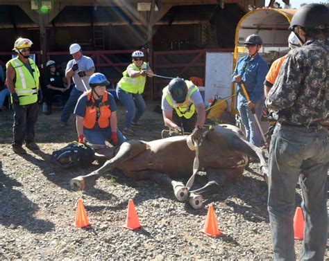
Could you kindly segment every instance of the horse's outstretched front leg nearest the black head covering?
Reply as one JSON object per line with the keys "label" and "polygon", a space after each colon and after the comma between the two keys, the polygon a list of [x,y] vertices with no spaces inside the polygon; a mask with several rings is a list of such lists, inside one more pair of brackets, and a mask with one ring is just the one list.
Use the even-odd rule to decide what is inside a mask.
{"label": "horse's outstretched front leg nearest the black head covering", "polygon": [[85,176],[79,176],[71,179],[71,188],[76,190],[83,190],[87,183],[95,181],[100,177],[101,174],[109,170],[113,170],[119,163],[137,156],[138,154],[144,152],[146,149],[147,145],[142,141],[129,141],[122,143],[115,157],[106,161],[106,163],[104,163],[101,168],[94,170]]}

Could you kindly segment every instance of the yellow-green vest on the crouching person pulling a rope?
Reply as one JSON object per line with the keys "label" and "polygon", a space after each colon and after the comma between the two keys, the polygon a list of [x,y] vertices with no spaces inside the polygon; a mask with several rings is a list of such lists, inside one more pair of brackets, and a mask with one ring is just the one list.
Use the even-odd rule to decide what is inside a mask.
{"label": "yellow-green vest on the crouching person pulling a rope", "polygon": [[[144,64],[146,64],[146,62],[144,62]],[[134,71],[141,71],[140,68],[138,68],[135,64],[129,64],[126,71],[122,73],[124,77],[121,78],[121,80],[119,80],[118,82],[119,88],[123,89],[128,93],[143,93],[146,83],[146,76],[140,75],[136,78],[131,78],[127,73],[128,69],[133,69]]]}

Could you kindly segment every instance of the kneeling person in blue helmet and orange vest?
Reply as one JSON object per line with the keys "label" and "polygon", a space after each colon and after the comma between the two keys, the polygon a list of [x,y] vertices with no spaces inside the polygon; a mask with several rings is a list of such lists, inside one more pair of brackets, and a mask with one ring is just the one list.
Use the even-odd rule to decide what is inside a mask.
{"label": "kneeling person in blue helmet and orange vest", "polygon": [[126,138],[117,129],[117,105],[112,94],[106,91],[110,84],[102,73],[90,76],[91,89],[78,99],[76,114],[76,131],[79,143],[91,143],[104,147],[105,141],[112,145],[121,145]]}

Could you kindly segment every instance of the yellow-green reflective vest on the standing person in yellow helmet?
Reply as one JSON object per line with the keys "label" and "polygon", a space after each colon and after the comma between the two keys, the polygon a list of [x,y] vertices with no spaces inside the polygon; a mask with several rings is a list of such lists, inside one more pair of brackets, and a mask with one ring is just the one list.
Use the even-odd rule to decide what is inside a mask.
{"label": "yellow-green reflective vest on the standing person in yellow helmet", "polygon": [[19,105],[31,105],[37,102],[40,72],[32,59],[28,58],[28,63],[31,66],[33,75],[18,57],[15,57],[6,63],[7,69],[9,64],[11,64],[16,72],[15,92],[19,98]]}

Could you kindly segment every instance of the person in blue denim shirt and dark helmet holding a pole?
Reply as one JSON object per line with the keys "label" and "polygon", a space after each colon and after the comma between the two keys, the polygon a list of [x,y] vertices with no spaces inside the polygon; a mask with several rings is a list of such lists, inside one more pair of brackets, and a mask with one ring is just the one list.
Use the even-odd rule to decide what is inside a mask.
{"label": "person in blue denim shirt and dark helmet holding a pole", "polygon": [[[251,112],[255,109],[255,114],[260,121],[262,109],[264,107],[264,87],[263,83],[269,70],[267,62],[260,57],[258,51],[262,46],[262,38],[259,35],[249,35],[244,42],[248,50],[248,55],[242,57],[232,75],[232,81],[237,82],[237,109],[246,129],[247,140],[253,145],[260,147],[262,134]],[[244,87],[248,93],[250,101],[246,99],[240,83],[244,82]]]}

